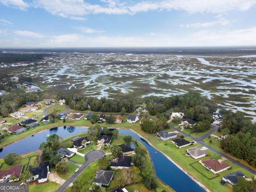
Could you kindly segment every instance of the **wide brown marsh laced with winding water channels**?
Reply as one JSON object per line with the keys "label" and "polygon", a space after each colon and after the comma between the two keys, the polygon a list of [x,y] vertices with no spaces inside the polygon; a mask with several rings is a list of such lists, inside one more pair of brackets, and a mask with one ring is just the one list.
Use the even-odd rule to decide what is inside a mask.
{"label": "wide brown marsh laced with winding water channels", "polygon": [[38,65],[4,68],[34,77],[50,97],[60,90],[136,98],[199,91],[220,106],[255,112],[255,57],[124,53],[58,53]]}

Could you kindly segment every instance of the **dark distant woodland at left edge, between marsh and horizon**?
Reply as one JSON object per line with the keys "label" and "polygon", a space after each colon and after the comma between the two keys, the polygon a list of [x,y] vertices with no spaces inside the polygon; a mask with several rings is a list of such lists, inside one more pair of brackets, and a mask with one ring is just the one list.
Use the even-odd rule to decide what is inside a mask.
{"label": "dark distant woodland at left edge, between marsh and horizon", "polygon": [[18,54],[3,53],[0,54],[0,62],[11,63],[18,61],[38,61],[43,59],[47,54]]}

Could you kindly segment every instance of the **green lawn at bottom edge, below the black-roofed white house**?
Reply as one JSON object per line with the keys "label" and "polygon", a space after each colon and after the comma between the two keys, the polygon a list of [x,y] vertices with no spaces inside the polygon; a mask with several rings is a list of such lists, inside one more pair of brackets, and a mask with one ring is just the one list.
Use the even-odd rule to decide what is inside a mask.
{"label": "green lawn at bottom edge, below the black-roofed white house", "polygon": [[43,184],[29,185],[29,192],[54,192],[60,187],[59,183],[50,181]]}

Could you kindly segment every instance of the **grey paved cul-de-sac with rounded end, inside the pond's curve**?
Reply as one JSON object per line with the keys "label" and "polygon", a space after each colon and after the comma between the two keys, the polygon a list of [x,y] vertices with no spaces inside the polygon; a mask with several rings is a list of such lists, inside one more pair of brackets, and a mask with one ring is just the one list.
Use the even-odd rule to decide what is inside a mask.
{"label": "grey paved cul-de-sac with rounded end, inside the pond's curve", "polygon": [[93,162],[97,162],[101,157],[103,157],[105,153],[101,150],[91,150],[84,155],[85,163],[79,167],[79,171],[73,173],[66,181],[63,183],[62,186],[56,192],[64,191],[70,183],[72,183],[83,171],[84,169]]}

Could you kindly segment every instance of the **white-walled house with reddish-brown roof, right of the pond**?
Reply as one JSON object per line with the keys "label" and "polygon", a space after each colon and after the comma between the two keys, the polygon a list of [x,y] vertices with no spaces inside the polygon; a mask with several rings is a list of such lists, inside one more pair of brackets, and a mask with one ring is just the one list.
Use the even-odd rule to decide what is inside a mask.
{"label": "white-walled house with reddish-brown roof, right of the pond", "polygon": [[229,169],[230,165],[222,162],[220,163],[217,159],[207,159],[205,161],[199,161],[206,169],[210,170],[214,174],[226,171]]}

